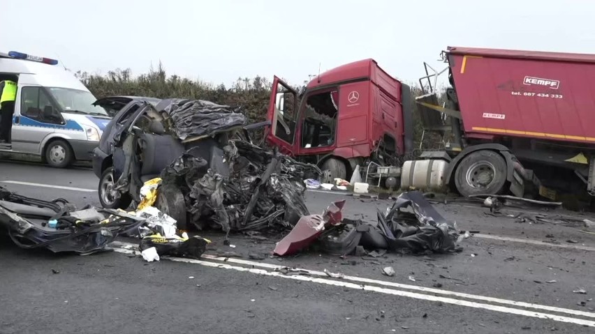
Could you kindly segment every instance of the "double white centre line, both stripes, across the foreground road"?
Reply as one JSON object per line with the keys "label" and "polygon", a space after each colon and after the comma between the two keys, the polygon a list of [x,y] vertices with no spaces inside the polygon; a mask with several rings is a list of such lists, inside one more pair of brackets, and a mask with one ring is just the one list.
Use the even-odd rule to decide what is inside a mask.
{"label": "double white centre line, both stripes, across the foreground road", "polygon": [[[119,242],[116,242],[113,244],[116,246],[119,246],[119,247],[121,247],[123,245],[132,245],[132,244],[128,244],[128,243],[119,243]],[[125,254],[131,254],[133,252],[132,250],[124,249],[124,248],[114,248],[114,250],[116,252],[122,252]],[[313,282],[313,283],[318,283],[318,284],[327,284],[327,285],[331,285],[331,286],[345,287],[345,288],[349,288],[349,289],[357,289],[357,290],[362,290],[362,291],[373,291],[373,292],[377,292],[377,293],[381,293],[381,294],[390,294],[393,296],[403,296],[403,297],[407,297],[407,298],[416,298],[416,299],[425,300],[425,301],[434,301],[434,302],[448,303],[448,304],[452,304],[452,305],[461,305],[461,306],[466,306],[469,308],[491,310],[494,312],[517,314],[517,315],[521,315],[524,317],[535,317],[535,318],[539,318],[539,319],[552,319],[554,321],[566,322],[566,323],[570,323],[570,324],[595,327],[595,321],[593,321],[593,320],[579,319],[579,318],[574,318],[574,317],[566,317],[566,316],[561,316],[558,314],[550,314],[550,313],[544,313],[544,312],[536,312],[534,310],[548,310],[550,312],[566,313],[566,314],[572,314],[575,316],[595,318],[595,313],[592,313],[592,312],[583,312],[583,311],[578,311],[578,310],[556,308],[553,306],[538,305],[538,304],[532,304],[532,303],[522,303],[522,302],[517,302],[517,301],[507,301],[505,299],[500,299],[500,298],[492,298],[492,297],[487,297],[487,296],[476,296],[476,295],[471,295],[471,294],[461,294],[461,293],[458,293],[455,291],[448,291],[448,290],[441,290],[441,289],[430,289],[430,288],[425,288],[425,287],[418,287],[415,285],[399,284],[399,283],[385,282],[385,281],[379,281],[379,280],[370,280],[367,278],[358,278],[358,277],[353,277],[353,276],[345,276],[342,280],[331,280],[328,278],[328,276],[325,275],[325,273],[322,273],[320,271],[309,271],[309,270],[305,270],[305,269],[300,269],[300,271],[305,271],[305,272],[309,273],[310,275],[324,276],[325,278],[313,278],[313,277],[304,276],[304,275],[284,275],[283,273],[280,273],[279,271],[274,271],[275,269],[283,268],[282,266],[276,266],[276,265],[272,265],[272,264],[263,264],[260,262],[246,261],[246,260],[226,258],[226,257],[214,257],[214,256],[210,256],[210,255],[203,255],[203,258],[209,259],[212,261],[204,261],[204,260],[198,260],[198,259],[184,259],[184,258],[177,258],[177,257],[165,257],[163,259],[169,259],[171,261],[184,262],[184,263],[188,263],[188,264],[199,264],[201,266],[208,266],[208,267],[212,267],[212,268],[224,268],[224,269],[228,269],[228,270],[254,273],[256,275],[266,275],[266,276],[285,278],[285,279],[290,279],[290,280],[300,280],[300,281]],[[226,263],[219,263],[219,262],[214,262],[214,261],[225,261]],[[244,266],[233,266],[228,263],[243,264],[243,265],[251,266],[251,268],[247,268]],[[256,267],[260,267],[260,268],[256,268]],[[261,269],[261,268],[268,268],[268,269],[272,269],[273,271],[267,271],[267,270]],[[379,287],[376,285],[367,285],[367,284],[356,284],[354,282],[372,283],[372,284],[378,284],[381,286],[383,285],[385,287]],[[400,290],[400,289],[390,289],[387,287],[399,287],[401,289],[416,290],[416,291],[420,291],[420,292],[425,292],[425,294],[413,292],[413,291],[404,291],[404,290]],[[432,293],[432,294],[428,294],[428,293]],[[450,298],[450,297],[446,297],[446,296],[435,296],[434,294],[443,294],[443,295],[448,295],[450,297],[475,299],[476,301],[468,301],[468,300],[464,300],[464,299]],[[510,307],[506,307],[506,306],[492,305],[492,304],[487,304],[487,303],[478,303],[477,301],[487,301],[487,302],[492,302],[492,303],[514,305],[517,307],[533,309],[533,310],[525,310],[525,309],[521,309],[521,308],[510,308]]]}

